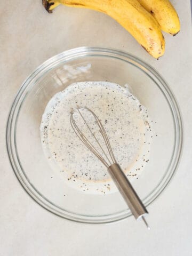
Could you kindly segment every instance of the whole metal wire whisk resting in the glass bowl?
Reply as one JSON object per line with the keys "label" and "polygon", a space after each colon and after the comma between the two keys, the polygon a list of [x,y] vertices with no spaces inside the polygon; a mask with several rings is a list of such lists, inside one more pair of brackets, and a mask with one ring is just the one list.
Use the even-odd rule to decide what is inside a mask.
{"label": "whole metal wire whisk resting in the glass bowl", "polygon": [[[81,110],[89,111],[89,113],[94,118],[95,125],[98,125],[99,127],[99,133],[101,134],[101,138],[103,139],[108,153],[105,151],[105,149],[102,146],[102,143],[99,141],[99,139],[95,136],[95,133],[92,131],[90,125],[87,123],[86,118],[83,116]],[[93,143],[90,141],[90,139],[87,138],[87,136],[82,132],[81,129],[79,129],[78,125],[75,122],[74,119],[74,111],[71,112],[70,115],[70,123],[73,127],[74,132],[78,136],[78,138],[84,143],[84,145],[95,155],[98,157],[98,159],[107,167],[107,170],[109,174],[111,175],[111,178],[113,179],[115,185],[117,186],[119,192],[123,196],[125,202],[129,206],[132,214],[134,215],[135,219],[142,218],[145,222],[148,229],[148,223],[144,218],[144,215],[148,213],[146,207],[141,202],[140,198],[138,197],[137,193],[135,192],[134,188],[132,187],[131,183],[127,179],[125,173],[122,171],[119,164],[116,162],[113,150],[111,148],[107,133],[100,122],[99,118],[94,114],[94,112],[87,108],[77,108],[77,113],[81,116],[82,121],[86,125],[87,129],[89,130],[92,138],[97,143],[98,147],[95,147]],[[99,150],[98,150],[99,148]]]}

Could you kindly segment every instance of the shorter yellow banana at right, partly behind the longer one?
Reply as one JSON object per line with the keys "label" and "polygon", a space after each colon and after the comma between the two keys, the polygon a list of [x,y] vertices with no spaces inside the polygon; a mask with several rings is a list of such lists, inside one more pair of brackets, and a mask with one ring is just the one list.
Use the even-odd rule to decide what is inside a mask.
{"label": "shorter yellow banana at right, partly behind the longer one", "polygon": [[153,15],[163,31],[173,36],[179,33],[179,17],[169,0],[138,0],[138,2]]}

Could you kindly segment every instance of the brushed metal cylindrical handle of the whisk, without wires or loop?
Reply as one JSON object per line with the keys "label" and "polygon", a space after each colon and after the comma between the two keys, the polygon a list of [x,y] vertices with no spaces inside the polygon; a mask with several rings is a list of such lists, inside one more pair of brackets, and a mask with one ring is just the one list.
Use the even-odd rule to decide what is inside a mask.
{"label": "brushed metal cylindrical handle of the whisk, without wires or loop", "polygon": [[121,167],[118,164],[112,164],[108,167],[108,171],[135,219],[148,213]]}

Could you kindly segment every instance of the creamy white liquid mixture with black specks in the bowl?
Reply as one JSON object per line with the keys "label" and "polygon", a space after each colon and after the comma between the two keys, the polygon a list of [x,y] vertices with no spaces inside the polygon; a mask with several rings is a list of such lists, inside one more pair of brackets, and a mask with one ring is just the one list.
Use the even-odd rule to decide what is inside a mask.
{"label": "creamy white liquid mixture with black specks in the bowl", "polygon": [[[148,110],[128,89],[109,82],[71,84],[55,94],[45,108],[40,127],[41,140],[52,168],[63,175],[69,186],[83,193],[117,191],[106,167],[71,128],[71,110],[85,106],[101,120],[117,163],[130,181],[138,179],[149,161],[153,134]],[[94,129],[94,125],[92,127]]]}

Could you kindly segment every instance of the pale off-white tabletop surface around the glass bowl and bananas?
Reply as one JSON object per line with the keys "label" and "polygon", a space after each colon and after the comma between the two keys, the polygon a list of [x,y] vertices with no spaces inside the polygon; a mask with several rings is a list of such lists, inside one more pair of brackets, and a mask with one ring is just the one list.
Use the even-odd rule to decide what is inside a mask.
{"label": "pale off-white tabletop surface around the glass bowl and bananas", "polygon": [[[191,17],[190,1],[172,1],[181,21],[176,37],[165,35],[158,61],[107,15],[60,6],[48,14],[41,1],[1,3],[0,255],[192,255]],[[181,107],[185,147],[179,170],[148,207],[148,231],[133,217],[107,225],[85,225],[56,217],[22,189],[9,164],[5,122],[23,80],[47,58],[77,46],[116,47],[146,60],[170,84]],[[154,170],[155,171],[155,170]]]}

